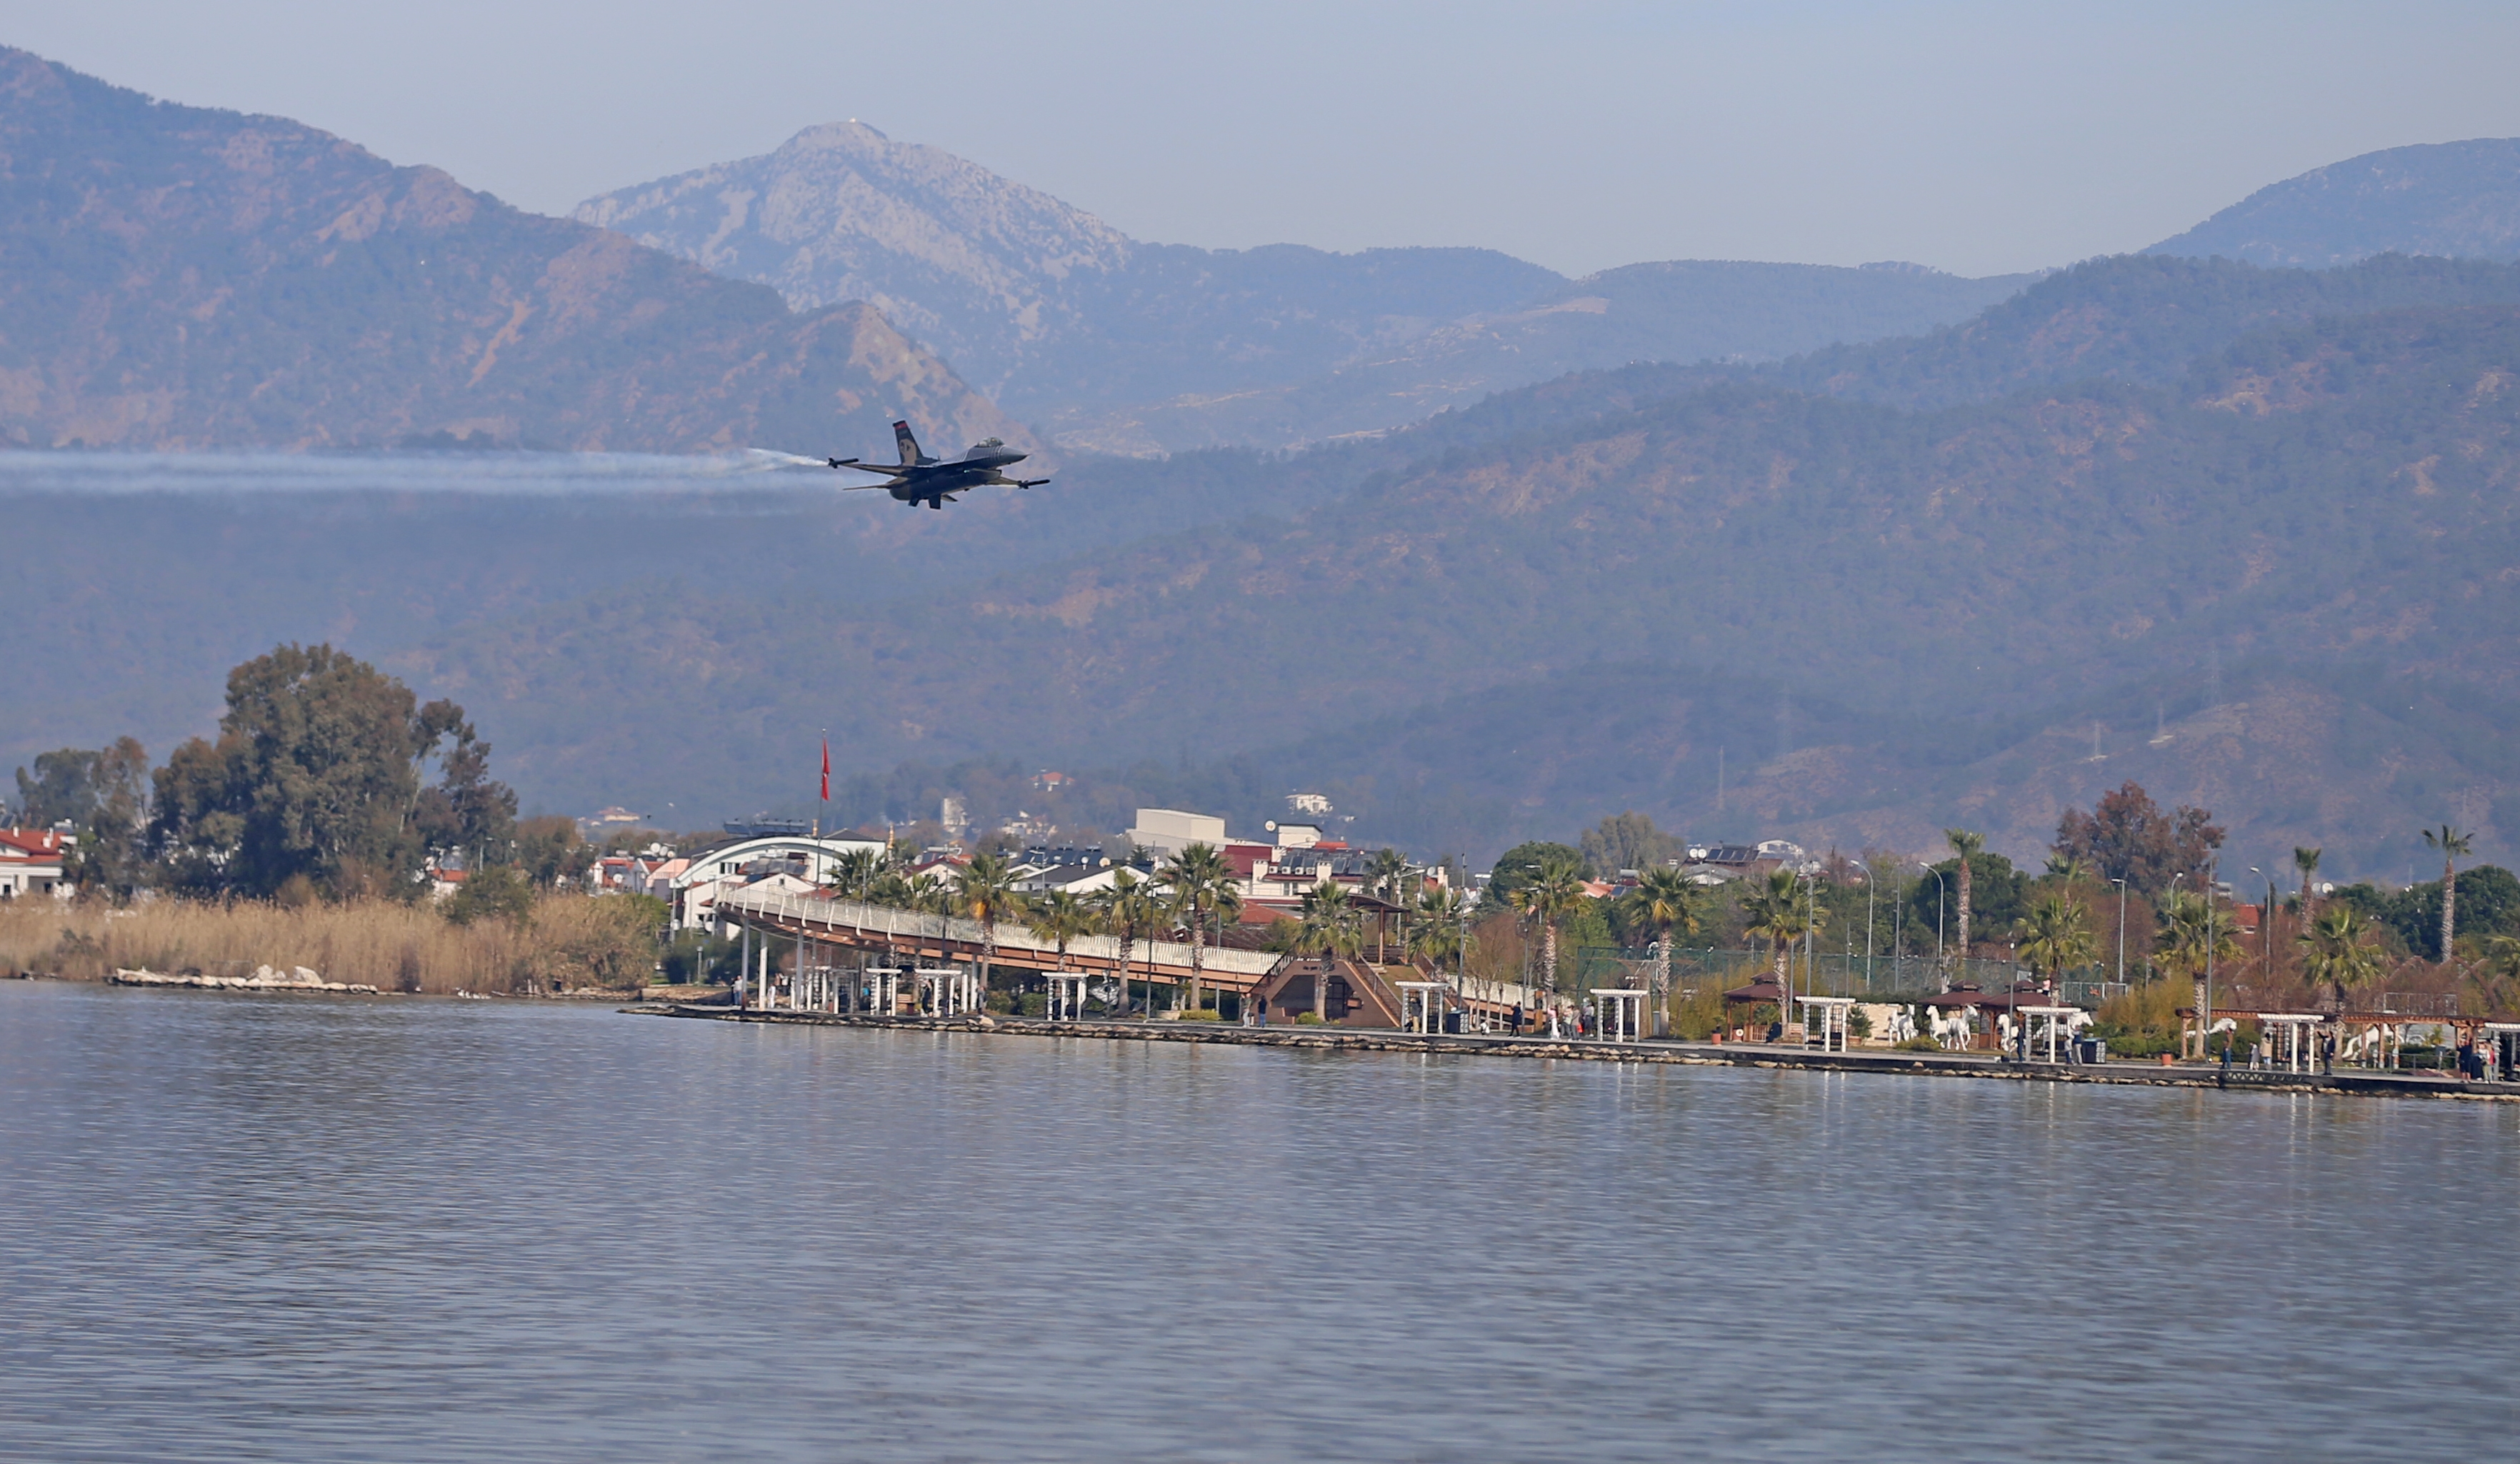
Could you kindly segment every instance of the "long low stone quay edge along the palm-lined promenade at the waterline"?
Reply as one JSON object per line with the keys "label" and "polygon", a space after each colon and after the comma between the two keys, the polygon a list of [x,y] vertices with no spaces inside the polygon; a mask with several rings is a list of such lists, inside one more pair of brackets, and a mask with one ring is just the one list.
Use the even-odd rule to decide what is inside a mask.
{"label": "long low stone quay edge along the palm-lined promenade at the waterline", "polygon": [[1333,1026],[1273,1026],[1245,1028],[1189,1021],[1046,1021],[1005,1015],[832,1015],[799,1010],[736,1010],[726,1005],[693,1003],[638,1003],[625,1005],[635,1015],[673,1015],[696,1021],[743,1021],[764,1026],[852,1026],[897,1028],[935,1033],[995,1033],[1031,1038],[1104,1038],[1144,1043],[1225,1043],[1252,1048],[1310,1048],[1310,1051],[1361,1051],[1361,1053],[1449,1053],[1479,1058],[1560,1058],[1590,1063],[1666,1063],[1701,1068],[1812,1068],[1827,1073],[1905,1073],[1933,1078],[1991,1078],[2036,1084],[2119,1084],[2142,1089],[2233,1089],[2255,1094],[2366,1094],[2397,1099],[2470,1099],[2470,1101],[2520,1101],[2520,1084],[2465,1084],[2452,1073],[2386,1073],[2386,1071],[2336,1071],[2336,1073],[2276,1073],[2218,1066],[2150,1066],[2150,1063],[2016,1063],[1983,1053],[1900,1053],[1852,1051],[1822,1053],[1814,1048],[1784,1048],[1767,1043],[1598,1043],[1570,1038],[1517,1038],[1517,1036],[1429,1036],[1381,1028]]}

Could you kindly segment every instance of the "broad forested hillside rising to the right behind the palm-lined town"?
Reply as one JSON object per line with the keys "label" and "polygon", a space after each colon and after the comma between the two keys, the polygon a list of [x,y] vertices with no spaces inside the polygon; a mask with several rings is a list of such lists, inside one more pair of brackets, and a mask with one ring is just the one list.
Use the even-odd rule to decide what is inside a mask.
{"label": "broad forested hillside rising to the right behind the palm-lined town", "polygon": [[[1323,781],[1416,766],[1411,796],[1452,801],[1421,826],[1477,847],[1578,791],[1651,786],[1676,821],[1711,816],[1719,746],[1751,763],[1734,811],[1847,839],[1956,806],[2036,824],[2061,806],[2041,789],[2076,796],[2054,769],[2092,756],[2099,721],[2114,761],[2089,776],[2175,746],[2165,776],[2268,779],[2265,826],[2228,809],[2243,832],[2376,857],[2442,799],[2510,821],[2510,753],[2460,728],[2492,726],[2475,718],[2520,663],[2515,358],[2520,310],[2467,307],[2255,333],[2175,388],[1938,413],[1719,386],[1462,446],[1290,519],[1021,572],[950,615],[701,595],[660,638],[610,595],[396,665],[501,706],[534,763],[519,776],[605,766],[610,733],[587,741],[564,711],[602,703],[716,731],[728,796],[776,781],[779,741],[728,728],[832,721],[862,769],[1016,748],[1174,769],[1247,751]],[[1610,663],[1661,670],[1593,685],[1583,668]],[[1706,673],[1764,690],[1691,718],[1633,690]],[[2298,736],[2235,731],[2243,685],[2271,688],[2250,706]],[[2467,711],[2407,723],[2402,695]],[[1497,716],[1555,751],[1517,763],[1532,743]],[[1663,743],[1620,731],[1641,716]],[[1530,776],[1464,779],[1497,743]],[[1467,814],[1482,799],[1502,821]]]}

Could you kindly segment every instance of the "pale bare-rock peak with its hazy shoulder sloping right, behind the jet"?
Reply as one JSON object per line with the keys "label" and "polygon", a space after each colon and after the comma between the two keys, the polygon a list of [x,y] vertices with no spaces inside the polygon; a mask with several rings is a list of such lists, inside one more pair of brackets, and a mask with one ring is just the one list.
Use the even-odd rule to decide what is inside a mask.
{"label": "pale bare-rock peak with its hazy shoulder sloping right, behind the jet", "polygon": [[587,199],[575,217],[771,285],[799,310],[869,300],[1021,413],[1300,380],[1560,282],[1494,249],[1144,244],[862,121]]}

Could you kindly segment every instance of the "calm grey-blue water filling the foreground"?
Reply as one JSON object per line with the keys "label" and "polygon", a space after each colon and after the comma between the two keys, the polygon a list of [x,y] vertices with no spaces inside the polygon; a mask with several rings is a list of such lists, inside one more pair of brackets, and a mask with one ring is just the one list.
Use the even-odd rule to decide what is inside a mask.
{"label": "calm grey-blue water filling the foreground", "polygon": [[0,985],[33,1459],[2520,1454],[2520,1111]]}

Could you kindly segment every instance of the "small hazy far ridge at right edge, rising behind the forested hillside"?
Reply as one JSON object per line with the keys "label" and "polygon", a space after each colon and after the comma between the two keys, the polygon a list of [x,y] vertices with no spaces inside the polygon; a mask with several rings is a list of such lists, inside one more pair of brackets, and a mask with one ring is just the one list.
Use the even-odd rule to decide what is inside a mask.
{"label": "small hazy far ridge at right edge, rising behind the forested hillside", "polygon": [[2371,254],[2520,257],[2520,139],[2384,149],[2258,189],[2147,254],[2326,270]]}

